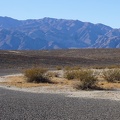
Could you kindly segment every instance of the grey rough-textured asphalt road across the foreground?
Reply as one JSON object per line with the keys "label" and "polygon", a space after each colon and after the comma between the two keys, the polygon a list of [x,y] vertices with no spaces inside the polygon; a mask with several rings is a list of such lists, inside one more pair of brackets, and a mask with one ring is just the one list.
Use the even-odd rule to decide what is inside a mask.
{"label": "grey rough-textured asphalt road across the foreground", "polygon": [[0,120],[120,120],[120,101],[0,88]]}

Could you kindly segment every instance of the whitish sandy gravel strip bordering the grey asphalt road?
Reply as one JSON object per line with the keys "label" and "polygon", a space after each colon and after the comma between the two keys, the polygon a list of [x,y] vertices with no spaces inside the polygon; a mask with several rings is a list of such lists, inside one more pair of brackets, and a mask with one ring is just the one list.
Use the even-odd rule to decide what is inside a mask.
{"label": "whitish sandy gravel strip bordering the grey asphalt road", "polygon": [[[0,82],[8,81],[10,76],[21,76],[21,74],[6,75],[0,77]],[[120,101],[120,89],[115,89],[111,91],[82,91],[75,90],[70,86],[40,86],[31,88],[17,88],[8,85],[0,85],[1,88],[18,90],[23,92],[34,92],[34,93],[52,93],[52,94],[64,94],[67,97],[77,97],[77,98],[93,98],[93,99],[109,99]]]}

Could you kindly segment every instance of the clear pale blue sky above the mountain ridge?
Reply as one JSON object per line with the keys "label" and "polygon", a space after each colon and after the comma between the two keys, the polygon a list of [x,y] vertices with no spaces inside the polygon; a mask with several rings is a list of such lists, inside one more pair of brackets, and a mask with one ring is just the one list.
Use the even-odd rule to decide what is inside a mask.
{"label": "clear pale blue sky above the mountain ridge", "polygon": [[120,0],[0,0],[0,16],[77,19],[120,28]]}

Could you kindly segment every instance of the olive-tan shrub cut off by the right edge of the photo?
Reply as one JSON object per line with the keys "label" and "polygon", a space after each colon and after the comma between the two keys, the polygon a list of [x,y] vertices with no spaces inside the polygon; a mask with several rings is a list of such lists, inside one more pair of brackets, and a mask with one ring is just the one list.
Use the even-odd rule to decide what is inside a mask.
{"label": "olive-tan shrub cut off by the right edge of the photo", "polygon": [[120,81],[120,69],[103,71],[103,78],[108,82]]}

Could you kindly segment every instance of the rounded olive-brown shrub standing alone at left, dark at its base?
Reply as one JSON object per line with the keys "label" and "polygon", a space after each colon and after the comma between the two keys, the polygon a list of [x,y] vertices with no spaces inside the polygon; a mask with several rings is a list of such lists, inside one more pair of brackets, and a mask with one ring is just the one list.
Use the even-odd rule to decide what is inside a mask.
{"label": "rounded olive-brown shrub standing alone at left, dark at its base", "polygon": [[25,70],[24,75],[27,82],[50,83],[50,79],[45,76],[46,71],[44,68],[32,68]]}

